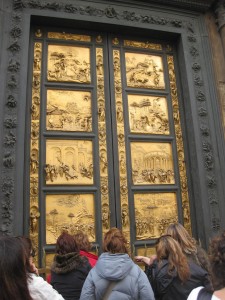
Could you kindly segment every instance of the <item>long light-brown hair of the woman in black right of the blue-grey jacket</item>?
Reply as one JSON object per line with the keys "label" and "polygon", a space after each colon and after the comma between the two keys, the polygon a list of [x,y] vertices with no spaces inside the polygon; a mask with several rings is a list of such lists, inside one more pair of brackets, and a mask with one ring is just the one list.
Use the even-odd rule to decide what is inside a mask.
{"label": "long light-brown hair of the woman in black right of the blue-grey jacket", "polygon": [[190,276],[188,261],[179,243],[170,235],[162,235],[156,243],[156,255],[159,266],[164,259],[168,260],[168,273],[177,272],[181,281],[186,281]]}

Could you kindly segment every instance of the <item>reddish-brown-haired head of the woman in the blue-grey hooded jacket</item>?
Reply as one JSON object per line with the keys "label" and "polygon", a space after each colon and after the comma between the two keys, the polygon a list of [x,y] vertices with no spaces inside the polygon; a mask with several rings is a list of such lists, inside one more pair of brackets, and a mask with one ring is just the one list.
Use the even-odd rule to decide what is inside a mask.
{"label": "reddish-brown-haired head of the woman in the blue-grey hooded jacket", "polygon": [[103,251],[110,253],[128,253],[128,244],[122,231],[111,228],[104,237]]}

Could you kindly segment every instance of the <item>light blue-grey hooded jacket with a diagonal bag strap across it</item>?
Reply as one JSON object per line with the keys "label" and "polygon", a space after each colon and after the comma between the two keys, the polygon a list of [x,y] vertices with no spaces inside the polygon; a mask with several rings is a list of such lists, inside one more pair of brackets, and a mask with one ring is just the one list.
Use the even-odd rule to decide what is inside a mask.
{"label": "light blue-grey hooded jacket with a diagonal bag strap across it", "polygon": [[110,282],[116,281],[109,300],[154,300],[146,274],[127,254],[103,253],[89,272],[80,300],[101,300]]}

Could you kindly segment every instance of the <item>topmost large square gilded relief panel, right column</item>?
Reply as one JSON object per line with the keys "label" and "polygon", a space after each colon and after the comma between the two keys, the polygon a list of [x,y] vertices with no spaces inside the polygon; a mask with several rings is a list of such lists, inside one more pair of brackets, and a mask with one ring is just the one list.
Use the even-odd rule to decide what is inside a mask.
{"label": "topmost large square gilded relief panel, right column", "polygon": [[161,56],[125,53],[127,85],[130,87],[164,89]]}

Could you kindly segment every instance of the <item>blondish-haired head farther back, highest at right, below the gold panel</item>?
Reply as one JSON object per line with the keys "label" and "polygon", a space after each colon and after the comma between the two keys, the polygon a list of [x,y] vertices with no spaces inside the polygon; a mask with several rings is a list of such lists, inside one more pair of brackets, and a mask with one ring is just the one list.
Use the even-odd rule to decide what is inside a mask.
{"label": "blondish-haired head farther back, highest at right, below the gold panel", "polygon": [[186,254],[196,254],[196,241],[193,239],[187,230],[180,223],[170,224],[165,234],[171,235],[180,244],[182,250]]}

